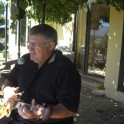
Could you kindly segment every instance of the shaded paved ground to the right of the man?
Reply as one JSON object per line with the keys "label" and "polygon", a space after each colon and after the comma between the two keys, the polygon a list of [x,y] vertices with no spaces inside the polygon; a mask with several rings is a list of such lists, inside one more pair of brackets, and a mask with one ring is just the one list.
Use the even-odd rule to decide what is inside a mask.
{"label": "shaded paved ground to the right of the man", "polygon": [[[92,84],[91,84],[92,82]],[[124,124],[124,105],[92,93],[100,86],[93,80],[82,78],[79,112],[75,124]]]}

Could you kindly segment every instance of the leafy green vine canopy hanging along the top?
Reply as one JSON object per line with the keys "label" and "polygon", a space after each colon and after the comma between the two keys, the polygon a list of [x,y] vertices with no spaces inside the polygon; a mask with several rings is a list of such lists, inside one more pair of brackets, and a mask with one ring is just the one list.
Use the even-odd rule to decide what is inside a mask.
{"label": "leafy green vine canopy hanging along the top", "polygon": [[39,23],[56,22],[65,24],[72,20],[72,14],[75,14],[83,3],[105,3],[111,4],[117,10],[124,10],[123,0],[10,0],[13,13],[13,21],[21,16],[34,19]]}

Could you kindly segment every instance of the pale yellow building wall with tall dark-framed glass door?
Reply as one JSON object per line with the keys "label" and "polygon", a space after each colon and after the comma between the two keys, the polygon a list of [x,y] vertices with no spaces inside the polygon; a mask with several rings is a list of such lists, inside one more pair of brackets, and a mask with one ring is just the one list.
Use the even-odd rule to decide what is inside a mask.
{"label": "pale yellow building wall with tall dark-framed glass door", "polygon": [[106,5],[90,7],[90,17],[88,11],[77,15],[77,65],[84,76],[103,83],[107,97],[124,102],[124,11]]}

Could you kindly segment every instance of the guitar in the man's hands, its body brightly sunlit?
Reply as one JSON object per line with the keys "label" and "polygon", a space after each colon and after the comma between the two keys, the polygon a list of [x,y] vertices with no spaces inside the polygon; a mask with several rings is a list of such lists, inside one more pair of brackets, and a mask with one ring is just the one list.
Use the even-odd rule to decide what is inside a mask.
{"label": "guitar in the man's hands, its body brightly sunlit", "polygon": [[[23,92],[22,92],[23,93]],[[21,96],[22,93],[17,93],[17,96]],[[42,108],[42,119],[43,120],[47,120],[50,118],[50,116],[52,115],[52,106],[48,106],[45,103],[43,103],[42,105],[39,104],[27,104],[24,102],[7,102],[4,99],[0,100],[0,119],[3,118],[4,116],[9,117],[11,114],[12,109],[16,109],[19,108],[20,106],[24,106],[27,107],[30,111],[35,112],[38,111],[39,108]]]}

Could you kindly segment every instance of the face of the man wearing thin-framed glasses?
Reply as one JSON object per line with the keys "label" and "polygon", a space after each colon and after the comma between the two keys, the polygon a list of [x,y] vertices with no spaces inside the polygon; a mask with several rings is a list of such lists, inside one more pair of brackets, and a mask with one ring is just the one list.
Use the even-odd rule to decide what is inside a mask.
{"label": "face of the man wearing thin-framed glasses", "polygon": [[54,50],[53,42],[45,41],[44,36],[40,34],[29,36],[28,43],[30,59],[37,64],[43,64]]}

